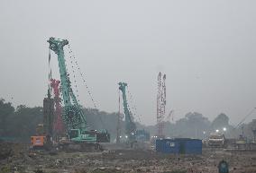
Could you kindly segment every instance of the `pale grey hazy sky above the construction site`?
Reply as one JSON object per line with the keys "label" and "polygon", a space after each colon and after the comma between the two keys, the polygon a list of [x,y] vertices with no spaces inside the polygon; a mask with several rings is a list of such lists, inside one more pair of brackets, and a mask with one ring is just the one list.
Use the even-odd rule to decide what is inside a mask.
{"label": "pale grey hazy sky above the construction site", "polygon": [[[128,82],[142,123],[154,124],[162,71],[174,119],[197,111],[212,120],[224,112],[237,124],[256,107],[255,6],[254,0],[1,0],[0,97],[42,106],[47,39],[56,37],[69,39],[102,110],[117,111],[117,83]],[[81,103],[93,107],[78,81]]]}

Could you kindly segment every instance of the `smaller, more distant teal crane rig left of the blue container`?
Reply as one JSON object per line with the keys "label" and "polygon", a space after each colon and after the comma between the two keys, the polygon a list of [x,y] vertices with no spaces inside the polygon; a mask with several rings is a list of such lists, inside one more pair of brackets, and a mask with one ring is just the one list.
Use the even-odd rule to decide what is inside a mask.
{"label": "smaller, more distant teal crane rig left of the blue container", "polygon": [[133,114],[129,110],[128,101],[126,98],[127,83],[119,82],[119,90],[123,93],[123,111],[124,111],[124,123],[125,123],[125,143],[129,147],[133,148],[135,143],[150,141],[150,134],[145,130],[137,130],[137,127],[133,121]]}

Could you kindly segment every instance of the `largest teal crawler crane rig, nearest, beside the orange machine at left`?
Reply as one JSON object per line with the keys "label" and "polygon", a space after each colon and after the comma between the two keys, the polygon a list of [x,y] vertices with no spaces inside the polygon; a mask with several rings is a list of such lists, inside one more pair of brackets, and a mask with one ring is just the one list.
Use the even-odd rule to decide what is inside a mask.
{"label": "largest teal crawler crane rig, nearest, beside the orange machine at left", "polygon": [[[63,50],[69,44],[69,41],[67,39],[50,38],[48,42],[50,44],[50,50],[58,56],[62,99],[64,103],[62,119],[67,128],[69,139],[59,144],[67,149],[99,150],[100,144],[97,143],[96,133],[88,129],[86,115],[78,104],[78,99],[69,81]],[[109,136],[107,133],[105,135]]]}

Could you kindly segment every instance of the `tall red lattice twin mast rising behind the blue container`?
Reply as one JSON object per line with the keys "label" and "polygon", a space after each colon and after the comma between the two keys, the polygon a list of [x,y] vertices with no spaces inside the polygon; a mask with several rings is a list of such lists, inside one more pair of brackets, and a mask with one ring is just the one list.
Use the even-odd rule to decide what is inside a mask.
{"label": "tall red lattice twin mast rising behind the blue container", "polygon": [[159,73],[158,75],[158,94],[157,94],[157,127],[158,127],[158,138],[163,138],[164,129],[164,117],[165,117],[165,106],[166,106],[166,74]]}

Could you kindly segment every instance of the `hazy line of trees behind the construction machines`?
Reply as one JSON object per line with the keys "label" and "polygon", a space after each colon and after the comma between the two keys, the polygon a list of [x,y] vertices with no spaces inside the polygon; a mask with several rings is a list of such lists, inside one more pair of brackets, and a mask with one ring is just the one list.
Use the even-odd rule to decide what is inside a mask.
{"label": "hazy line of trees behind the construction machines", "polygon": [[[90,129],[106,129],[111,134],[111,140],[116,137],[116,125],[118,113],[108,113],[95,108],[84,108],[88,126]],[[121,115],[124,117],[123,115]],[[18,141],[29,143],[31,135],[36,132],[36,126],[42,123],[43,111],[41,107],[28,108],[20,105],[14,108],[12,103],[0,99],[0,140]],[[145,129],[156,135],[156,125],[142,125],[136,122],[138,129]],[[210,121],[207,117],[197,112],[189,112],[184,117],[178,119],[175,123],[166,121],[164,123],[164,134],[168,137],[189,137],[204,139],[207,136],[219,130],[229,138],[237,138],[239,134],[246,135],[253,139],[253,123],[243,124],[235,128],[229,123],[229,117],[221,113]],[[121,121],[121,132],[124,133],[124,122]],[[242,127],[242,128],[241,128]],[[224,131],[225,128],[225,131]]]}

